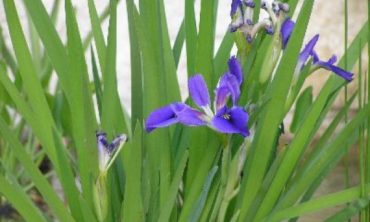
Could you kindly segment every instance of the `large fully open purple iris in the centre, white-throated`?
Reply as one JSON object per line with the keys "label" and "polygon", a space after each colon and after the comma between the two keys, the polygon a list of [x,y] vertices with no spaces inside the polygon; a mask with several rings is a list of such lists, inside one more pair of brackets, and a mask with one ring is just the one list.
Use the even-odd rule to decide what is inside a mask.
{"label": "large fully open purple iris in the centre, white-throated", "polygon": [[[234,56],[229,59],[228,65],[229,71],[221,76],[215,90],[214,111],[211,109],[210,96],[203,76],[196,74],[189,79],[188,88],[191,98],[200,110],[181,102],[171,103],[149,114],[145,123],[146,131],[151,132],[156,128],[181,123],[187,126],[207,125],[222,133],[248,136],[249,115],[236,105],[243,82],[242,69]],[[233,104],[231,108],[227,106],[230,97]]]}

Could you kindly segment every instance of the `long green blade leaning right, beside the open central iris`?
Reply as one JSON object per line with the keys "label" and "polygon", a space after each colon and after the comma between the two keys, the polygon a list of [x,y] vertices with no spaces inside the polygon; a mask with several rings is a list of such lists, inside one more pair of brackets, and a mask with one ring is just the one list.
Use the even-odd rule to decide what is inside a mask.
{"label": "long green blade leaning right, beside the open central iris", "polygon": [[[267,169],[276,132],[282,121],[281,115],[284,112],[284,104],[281,101],[285,101],[289,91],[290,82],[293,77],[295,64],[305,34],[305,27],[307,27],[310,18],[313,3],[314,1],[308,0],[304,2],[303,10],[297,21],[297,27],[300,28],[294,29],[291,36],[292,41],[289,41],[287,45],[286,52],[281,59],[281,63],[276,71],[276,76],[272,82],[269,92],[269,95],[272,97],[266,105],[265,113],[261,115],[261,122],[257,129],[258,133],[255,135],[252,144],[258,152],[253,156],[249,170],[250,174],[245,177],[246,182],[243,193],[243,203],[240,208],[240,221],[244,221],[250,204],[258,192]],[[272,199],[271,201],[274,200]],[[268,208],[270,205],[266,204],[266,207]]]}

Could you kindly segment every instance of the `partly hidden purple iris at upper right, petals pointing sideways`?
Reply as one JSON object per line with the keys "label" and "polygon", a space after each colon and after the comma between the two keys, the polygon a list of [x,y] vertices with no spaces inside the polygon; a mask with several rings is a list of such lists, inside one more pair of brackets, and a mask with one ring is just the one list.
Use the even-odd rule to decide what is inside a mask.
{"label": "partly hidden purple iris at upper right, petals pointing sideways", "polygon": [[[282,47],[285,49],[289,38],[293,32],[295,23],[290,19],[287,18],[281,26],[281,41]],[[296,67],[296,73],[299,73],[304,65],[306,64],[307,60],[312,57],[312,65],[324,68],[326,70],[332,71],[338,76],[342,77],[346,81],[350,82],[353,79],[353,73],[350,73],[342,68],[335,66],[334,63],[337,61],[337,57],[334,55],[328,61],[322,61],[319,59],[318,55],[316,54],[314,47],[319,40],[319,35],[315,35],[304,47],[302,52],[299,54],[298,63]]]}

